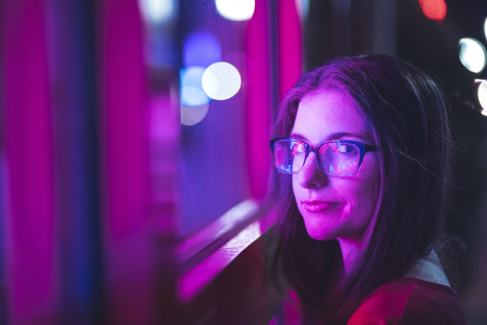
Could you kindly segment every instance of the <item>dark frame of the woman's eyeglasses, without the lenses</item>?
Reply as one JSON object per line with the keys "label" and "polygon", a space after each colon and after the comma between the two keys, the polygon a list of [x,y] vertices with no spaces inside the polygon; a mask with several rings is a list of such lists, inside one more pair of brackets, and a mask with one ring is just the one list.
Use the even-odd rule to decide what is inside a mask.
{"label": "dark frame of the woman's eyeglasses, without the lenses", "polygon": [[[303,165],[301,166],[301,168],[295,172],[287,172],[287,171],[283,171],[281,170],[277,165],[276,165],[276,159],[274,157],[274,144],[279,141],[279,140],[289,140],[289,141],[296,141],[296,142],[299,142],[301,143],[303,146],[304,146],[304,149],[305,149],[305,156],[304,156],[304,159],[303,159]],[[340,143],[350,143],[350,144],[353,144],[353,145],[356,145],[360,151],[360,158],[358,160],[358,164],[357,164],[357,168],[355,170],[355,172],[351,173],[351,174],[346,174],[346,175],[337,175],[337,174],[332,174],[330,172],[326,172],[324,169],[323,169],[323,166],[321,165],[321,161],[319,159],[319,148],[321,148],[321,146],[323,145],[326,145],[326,144],[329,144],[329,143],[337,143],[337,142],[340,142]],[[319,166],[319,169],[324,172],[325,174],[327,175],[330,175],[330,176],[340,176],[340,177],[348,177],[348,176],[353,176],[355,175],[360,166],[362,165],[362,160],[363,160],[363,157],[365,155],[365,153],[368,153],[368,152],[375,152],[377,151],[377,146],[371,146],[371,145],[368,145],[368,144],[365,144],[365,143],[362,143],[362,142],[357,142],[357,141],[353,141],[353,140],[342,140],[342,139],[337,139],[337,140],[328,140],[328,141],[323,141],[323,142],[320,142],[316,145],[311,145],[311,144],[307,144],[306,142],[300,140],[300,139],[296,139],[296,138],[291,138],[291,137],[280,137],[280,138],[275,138],[275,139],[272,139],[270,141],[270,147],[271,147],[271,150],[272,150],[272,156],[273,156],[273,161],[274,161],[274,166],[276,167],[276,169],[278,170],[278,172],[282,172],[284,174],[297,174],[298,172],[301,171],[301,169],[304,167],[304,164],[306,163],[306,159],[308,159],[308,155],[310,152],[314,152],[315,153],[315,156],[316,156],[316,160],[318,161],[318,166]]]}

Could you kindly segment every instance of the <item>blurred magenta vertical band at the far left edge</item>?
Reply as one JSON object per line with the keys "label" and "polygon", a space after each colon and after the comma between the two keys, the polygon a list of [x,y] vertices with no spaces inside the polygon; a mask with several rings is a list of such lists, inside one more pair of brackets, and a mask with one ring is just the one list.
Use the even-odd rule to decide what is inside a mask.
{"label": "blurred magenta vertical band at the far left edge", "polygon": [[44,1],[1,5],[5,318],[55,324],[59,265]]}

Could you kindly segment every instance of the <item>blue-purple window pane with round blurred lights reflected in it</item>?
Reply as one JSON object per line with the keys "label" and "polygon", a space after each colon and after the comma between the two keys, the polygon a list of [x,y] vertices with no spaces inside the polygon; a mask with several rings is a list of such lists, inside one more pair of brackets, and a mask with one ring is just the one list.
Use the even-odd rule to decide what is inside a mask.
{"label": "blue-purple window pane with round blurred lights reflected in it", "polygon": [[[234,6],[249,2],[249,7],[254,3],[233,2]],[[183,67],[179,232],[188,236],[249,198],[244,79],[247,21],[223,17],[222,12],[229,13],[228,7],[217,9],[214,0],[183,1],[180,10]],[[247,14],[246,19],[251,16]]]}

